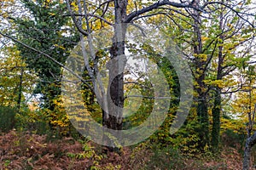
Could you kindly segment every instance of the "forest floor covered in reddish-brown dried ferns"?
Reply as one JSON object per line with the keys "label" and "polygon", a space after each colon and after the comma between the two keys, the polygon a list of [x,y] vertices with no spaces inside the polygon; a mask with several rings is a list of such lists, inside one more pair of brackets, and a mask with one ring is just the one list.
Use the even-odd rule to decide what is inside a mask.
{"label": "forest floor covered in reddish-brown dried ferns", "polygon": [[126,147],[120,154],[108,155],[100,154],[101,150],[101,146],[91,142],[83,144],[72,138],[49,140],[46,135],[11,131],[0,136],[0,169],[241,169],[242,162],[241,153],[234,148],[225,148],[214,159],[213,156],[183,156],[182,161],[166,159],[171,160],[166,165],[170,163],[172,167],[162,168],[152,163],[146,167],[154,155],[151,150]]}

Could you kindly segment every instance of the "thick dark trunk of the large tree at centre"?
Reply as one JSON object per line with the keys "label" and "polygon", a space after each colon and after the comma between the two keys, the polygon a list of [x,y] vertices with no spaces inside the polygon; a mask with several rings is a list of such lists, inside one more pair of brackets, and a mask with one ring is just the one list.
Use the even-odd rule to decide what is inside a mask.
{"label": "thick dark trunk of the large tree at centre", "polygon": [[[111,61],[108,63],[108,113],[104,111],[103,126],[113,130],[122,130],[122,116],[124,107],[124,74],[125,69],[125,32],[123,23],[126,18],[127,0],[115,0],[115,25]],[[116,150],[118,141],[110,141],[108,149]]]}

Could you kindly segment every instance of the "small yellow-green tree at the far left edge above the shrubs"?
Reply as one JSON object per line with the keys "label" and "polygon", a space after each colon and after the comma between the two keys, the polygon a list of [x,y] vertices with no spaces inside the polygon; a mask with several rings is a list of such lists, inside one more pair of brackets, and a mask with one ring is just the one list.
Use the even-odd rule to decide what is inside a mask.
{"label": "small yellow-green tree at the far left edge above the shrubs", "polygon": [[[0,105],[17,108],[26,105],[26,95],[32,93],[35,78],[26,69],[26,63],[20,57],[17,48],[9,45],[0,51]],[[28,96],[27,96],[28,97]]]}

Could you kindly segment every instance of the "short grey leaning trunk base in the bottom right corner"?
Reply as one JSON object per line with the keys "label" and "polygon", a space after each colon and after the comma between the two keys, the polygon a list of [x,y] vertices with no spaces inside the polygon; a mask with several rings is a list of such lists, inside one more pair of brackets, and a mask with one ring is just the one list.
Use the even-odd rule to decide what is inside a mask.
{"label": "short grey leaning trunk base in the bottom right corner", "polygon": [[252,136],[247,138],[243,155],[242,170],[250,169],[251,150],[254,144],[256,144],[256,133],[253,133]]}

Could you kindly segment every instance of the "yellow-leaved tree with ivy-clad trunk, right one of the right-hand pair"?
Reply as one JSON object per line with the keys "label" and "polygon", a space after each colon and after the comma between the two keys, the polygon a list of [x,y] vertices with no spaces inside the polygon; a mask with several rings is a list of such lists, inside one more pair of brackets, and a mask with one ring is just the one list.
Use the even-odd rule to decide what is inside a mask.
{"label": "yellow-leaved tree with ivy-clad trunk, right one of the right-hand pair", "polygon": [[[245,3],[240,4],[241,7],[247,8]],[[218,14],[218,13],[217,13]],[[212,76],[214,79],[208,82],[213,88],[213,106],[212,106],[212,150],[218,150],[219,143],[219,131],[220,131],[220,117],[222,112],[222,95],[232,94],[240,90],[242,82],[236,82],[234,78],[230,76],[236,71],[240,71],[245,65],[245,62],[250,59],[249,51],[253,40],[252,26],[248,26],[245,20],[247,16],[242,18],[237,17],[231,9],[226,7],[220,7],[218,14],[219,20],[214,25],[216,33],[219,37],[216,39],[216,58],[213,57],[213,62],[217,63],[217,67],[212,65]],[[229,18],[232,18],[230,20]],[[248,44],[247,48],[242,48],[243,45]]]}

